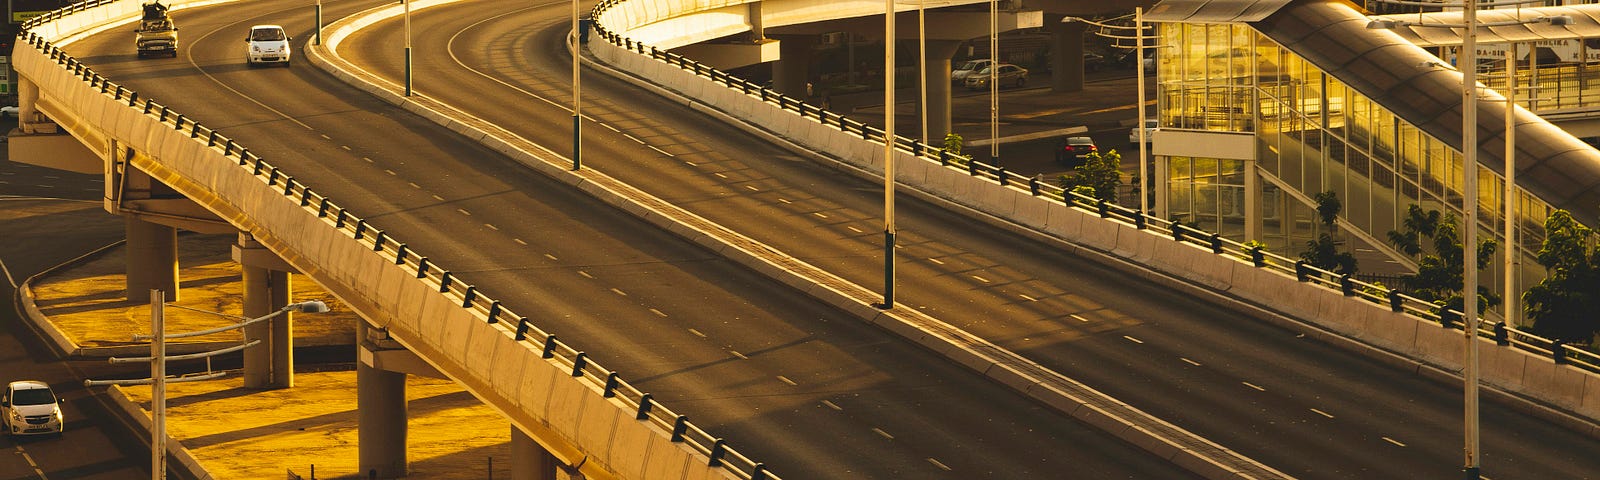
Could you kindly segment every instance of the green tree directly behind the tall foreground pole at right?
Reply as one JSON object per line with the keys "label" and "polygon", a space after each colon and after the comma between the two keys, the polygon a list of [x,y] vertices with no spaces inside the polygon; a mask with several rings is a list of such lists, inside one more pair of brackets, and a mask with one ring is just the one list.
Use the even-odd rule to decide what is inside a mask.
{"label": "green tree directly behind the tall foreground pole at right", "polygon": [[[1389,232],[1389,243],[1418,261],[1418,272],[1402,277],[1408,293],[1437,306],[1461,309],[1466,248],[1461,245],[1456,216],[1438,210],[1422,211],[1421,206],[1411,205],[1400,226],[1402,230]],[[1478,242],[1478,270],[1494,261],[1496,248],[1493,238]],[[1499,302],[1499,294],[1478,285],[1478,307],[1488,309]]]}

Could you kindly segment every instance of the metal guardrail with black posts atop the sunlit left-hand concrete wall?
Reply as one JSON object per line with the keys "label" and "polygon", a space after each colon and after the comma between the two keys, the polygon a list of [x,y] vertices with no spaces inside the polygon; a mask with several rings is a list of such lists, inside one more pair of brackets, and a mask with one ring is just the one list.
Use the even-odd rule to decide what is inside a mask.
{"label": "metal guardrail with black posts atop the sunlit left-hand concrete wall", "polygon": [[334,229],[342,230],[350,237],[350,240],[362,242],[371,246],[373,253],[392,259],[395,266],[410,269],[416,274],[419,282],[437,285],[438,294],[451,298],[462,309],[478,314],[485,318],[485,322],[498,325],[502,333],[512,336],[515,341],[526,342],[530,349],[541,350],[547,362],[568,368],[571,376],[578,381],[600,387],[606,398],[618,398],[624,405],[635,408],[635,419],[651,422],[656,427],[670,432],[672,442],[683,443],[707,456],[709,466],[722,467],[738,478],[779,480],[779,477],[770,472],[765,464],[733,450],[726,445],[726,442],[723,442],[723,438],[694,426],[686,416],[678,414],[666,405],[656,402],[648,392],[622,381],[616,371],[606,370],[590,360],[587,352],[578,350],[557,339],[555,334],[539,330],[533,325],[533,322],[530,322],[528,317],[517,315],[509,307],[501,306],[499,301],[488,298],[475,285],[462,282],[450,270],[442,269],[427,256],[411,250],[405,242],[400,242],[394,235],[374,227],[366,219],[362,219],[338,203],[333,203],[333,200],[326,195],[312,192],[310,187],[298,182],[293,176],[277,166],[272,166],[259,155],[250,152],[250,149],[240,146],[221,131],[200,125],[200,122],[195,122],[187,115],[178,114],[154,99],[141,98],[138,91],[101,77],[78,59],[69,56],[61,48],[51,45],[46,38],[30,30],[43,22],[114,2],[118,0],[90,0],[50,11],[24,22],[18,37],[22,43],[37,48],[62,69],[70,70],[74,75],[86,82],[90,88],[96,88],[101,94],[110,96],[115,101],[126,101],[130,109],[138,109],[144,115],[155,117],[157,122],[171,125],[176,131],[187,130],[190,139],[195,139],[197,142],[203,141],[206,147],[222,149],[222,157],[238,158],[238,168],[250,170],[253,176],[266,181],[269,187],[282,186],[285,197],[299,198],[299,206],[302,210],[315,213],[317,218],[325,219],[325,222],[331,222]]}

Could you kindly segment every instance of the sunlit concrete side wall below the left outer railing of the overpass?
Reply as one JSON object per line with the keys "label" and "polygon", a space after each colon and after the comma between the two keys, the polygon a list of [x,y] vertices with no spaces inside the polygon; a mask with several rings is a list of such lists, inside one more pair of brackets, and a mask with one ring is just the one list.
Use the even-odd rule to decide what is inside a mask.
{"label": "sunlit concrete side wall below the left outer railing of the overpass", "polygon": [[[133,8],[120,8],[126,5]],[[115,22],[117,14],[134,14],[138,2],[104,10],[69,16],[70,26],[56,24],[50,32],[72,35],[74,29]],[[661,424],[634,419],[637,406],[624,395],[603,397],[603,379],[592,371],[573,378],[570,360],[560,355],[546,360],[531,339],[515,341],[515,325],[488,323],[482,307],[461,307],[456,290],[440,293],[438,282],[418,278],[413,264],[397,262],[387,250],[374,251],[371,235],[355,240],[349,224],[341,229],[331,214],[320,218],[315,202],[301,206],[301,192],[286,195],[282,179],[269,184],[266,176],[240,166],[237,147],[232,155],[221,146],[208,147],[205,136],[192,139],[189,128],[174,130],[154,114],[128,107],[126,99],[90,88],[85,78],[27,43],[18,45],[13,62],[19,75],[38,85],[42,99],[48,99],[46,112],[70,133],[115,139],[136,150],[136,168],[229,219],[368,322],[389,328],[395,339],[504,413],[565,464],[581,464],[586,477],[736,478],[728,469],[710,467],[709,458],[690,445],[670,442]],[[118,154],[104,152],[106,146],[98,149]],[[426,253],[413,251],[411,259],[419,254]],[[435,266],[435,272],[446,267]],[[461,285],[464,278],[456,282]]]}

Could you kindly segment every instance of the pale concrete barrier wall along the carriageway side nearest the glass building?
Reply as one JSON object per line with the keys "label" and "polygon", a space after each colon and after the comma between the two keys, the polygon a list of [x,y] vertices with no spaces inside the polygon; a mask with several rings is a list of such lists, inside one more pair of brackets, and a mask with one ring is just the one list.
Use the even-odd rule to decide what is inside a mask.
{"label": "pale concrete barrier wall along the carriageway side nearest the glass building", "polygon": [[[634,3],[654,2],[619,2],[629,8],[643,8]],[[608,30],[619,32],[630,27],[621,22],[627,18],[611,16],[611,10],[606,10],[600,21]],[[611,45],[605,38],[592,38],[587,48],[610,67],[637,78],[648,78],[645,82],[669,91],[675,101],[741,118],[742,123],[736,126],[757,136],[819,154],[814,157],[838,162],[853,173],[882,178],[882,139],[864,141],[859,134],[846,134],[814,118],[802,118],[797,112],[763,102],[754,94],[739,93],[707,77]],[[1307,322],[1432,368],[1445,371],[1462,368],[1466,354],[1459,330],[1445,330],[1437,323],[1390,312],[1387,306],[1346,298],[1331,288],[1302,285],[1294,277],[1275,270],[1256,269],[1245,259],[1213,254],[1208,248],[1178,243],[1171,237],[1101,219],[1056,200],[1032,197],[1026,186],[1002,187],[990,179],[973,178],[907,152],[896,152],[894,162],[896,181],[909,187],[906,194],[971,210],[1002,227],[1042,234],[1131,261],[1160,275],[1181,278],[1187,285],[1174,286],[1202,288],[1262,306],[1267,314]],[[1498,347],[1482,339],[1480,342],[1480,373],[1485,384],[1541,400],[1590,421],[1600,419],[1600,376],[1555,365],[1550,358],[1518,349]]]}

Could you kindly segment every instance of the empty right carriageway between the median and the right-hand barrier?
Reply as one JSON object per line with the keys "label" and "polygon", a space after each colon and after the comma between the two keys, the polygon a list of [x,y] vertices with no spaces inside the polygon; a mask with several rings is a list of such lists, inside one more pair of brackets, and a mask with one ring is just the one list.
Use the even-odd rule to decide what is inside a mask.
{"label": "empty right carriageway between the median and the right-hand barrier", "polygon": [[[414,88],[558,152],[571,146],[568,3],[413,13]],[[592,40],[598,42],[598,40]],[[400,82],[398,19],[341,46]],[[584,70],[584,165],[850,278],[880,285],[882,184]],[[1002,133],[1003,136],[1003,133]],[[1459,475],[1462,395],[1056,245],[901,202],[899,302],[1301,478]],[[1410,328],[1410,326],[1406,326]],[[1483,469],[1560,478],[1600,442],[1483,406]],[[1005,445],[1005,448],[1027,445]]]}

